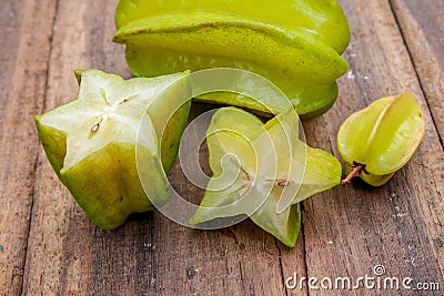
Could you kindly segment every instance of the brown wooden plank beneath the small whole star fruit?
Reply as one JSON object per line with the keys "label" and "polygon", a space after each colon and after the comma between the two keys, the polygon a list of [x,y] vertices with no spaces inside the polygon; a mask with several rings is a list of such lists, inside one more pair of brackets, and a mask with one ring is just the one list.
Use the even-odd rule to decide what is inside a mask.
{"label": "brown wooden plank beneath the small whole star fruit", "polygon": [[[333,109],[304,123],[307,142],[340,156],[335,144],[340,124],[373,100],[404,90],[416,95],[427,127],[417,153],[387,185],[371,188],[354,182],[304,202],[307,275],[356,279],[374,276],[373,267],[382,264],[386,276],[437,282],[442,287],[444,258],[442,244],[436,242],[444,237],[444,154],[427,103],[389,2],[340,2],[352,28],[344,54],[350,72],[340,80]],[[400,295],[400,290],[310,290],[310,295],[337,294]],[[402,290],[402,295],[411,294]]]}

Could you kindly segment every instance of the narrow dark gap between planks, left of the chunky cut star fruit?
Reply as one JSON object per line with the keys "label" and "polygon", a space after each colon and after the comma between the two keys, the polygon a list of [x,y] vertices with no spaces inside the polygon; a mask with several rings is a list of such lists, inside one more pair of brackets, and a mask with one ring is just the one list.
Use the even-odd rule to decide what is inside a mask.
{"label": "narrow dark gap between planks, left of the chunky cut star fruit", "polygon": [[[56,25],[56,19],[57,19],[57,14],[58,14],[58,11],[59,11],[59,1],[60,0],[57,0],[56,1],[56,6],[54,6],[54,10],[53,10],[53,17],[52,17],[52,24],[51,24],[51,34],[50,34],[50,38],[49,38],[49,43],[50,43],[50,48],[49,48],[49,51],[48,51],[48,61],[47,61],[47,71],[46,71],[46,81],[44,81],[44,91],[43,91],[43,104],[42,104],[42,109],[43,110],[46,110],[46,106],[47,106],[47,93],[48,93],[48,80],[49,80],[49,68],[50,68],[50,63],[51,63],[51,55],[52,55],[52,44],[53,44],[53,35],[54,35],[54,25]],[[38,108],[36,108],[36,109],[38,109]],[[37,141],[37,146],[39,147],[39,145],[40,145],[40,140],[38,140]],[[36,197],[36,180],[37,180],[37,166],[38,166],[38,163],[39,163],[39,155],[40,155],[40,153],[39,153],[39,149],[36,149],[36,161],[34,161],[34,164],[33,164],[33,188],[32,188],[32,200],[31,200],[31,205],[30,205],[30,211],[29,211],[29,215],[30,215],[30,217],[29,217],[29,222],[28,222],[28,229],[27,229],[27,232],[28,232],[28,237],[27,237],[27,245],[26,245],[26,247],[24,247],[24,254],[23,254],[23,271],[24,271],[24,273],[23,273],[23,276],[21,277],[21,285],[20,285],[20,290],[19,290],[19,295],[22,295],[23,294],[23,286],[24,286],[24,275],[27,274],[26,273],[26,267],[27,267],[27,258],[28,258],[28,249],[29,249],[29,244],[30,244],[30,234],[31,234],[31,225],[32,225],[32,217],[33,217],[33,215],[32,215],[32,213],[33,213],[33,207],[34,207],[34,197]]]}

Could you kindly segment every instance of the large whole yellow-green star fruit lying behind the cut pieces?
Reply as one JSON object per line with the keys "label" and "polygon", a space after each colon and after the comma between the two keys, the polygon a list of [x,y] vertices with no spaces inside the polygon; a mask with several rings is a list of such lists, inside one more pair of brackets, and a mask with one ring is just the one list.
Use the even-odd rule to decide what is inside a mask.
{"label": "large whole yellow-green star fruit lying behind the cut pieces", "polygon": [[[119,4],[119,30],[114,41],[127,44],[127,62],[134,74],[152,76],[184,69],[198,71],[208,68],[239,68],[255,72],[275,83],[302,118],[320,115],[335,102],[335,81],[347,70],[347,63],[340,53],[350,39],[346,19],[339,4],[334,4],[335,1],[330,1],[330,6],[324,3],[325,7],[317,1],[301,1],[297,6],[287,3],[287,10],[291,10],[290,7],[299,10],[293,17],[301,18],[290,18],[286,12],[284,16],[289,16],[287,19],[284,16],[279,17],[281,22],[272,22],[278,19],[278,14],[273,12],[285,10],[284,4],[278,6],[279,9],[268,10],[273,18],[260,19],[265,10],[262,13],[249,13],[243,10],[243,4],[239,4],[238,12],[232,11],[236,6],[229,6],[230,9],[224,11],[222,7],[225,1],[215,1],[222,4],[214,4],[215,8],[209,11],[202,10],[206,6],[198,6],[200,1],[189,2],[185,1],[184,7],[179,4],[173,8],[173,4],[167,4],[157,10],[145,8],[147,1],[137,1],[131,7],[140,6],[138,13],[129,8],[127,1]],[[319,27],[315,25],[320,31],[309,24],[319,19],[312,18],[315,14],[312,10],[305,10],[310,7],[306,2],[312,2],[312,8],[321,6],[324,9],[321,9],[320,14],[324,13],[322,16],[325,17],[325,22],[321,21]],[[261,3],[275,7],[270,2]],[[307,14],[302,17],[304,13]],[[326,17],[329,13],[331,18]],[[327,30],[326,23],[332,24],[329,20],[332,23],[335,20],[342,29],[333,31],[333,27],[330,27]],[[286,24],[283,24],[285,21]],[[329,35],[334,38],[329,39]],[[342,45],[333,40],[339,40]],[[254,100],[232,93],[211,93],[196,99],[270,112]],[[279,113],[284,109],[285,106],[278,106],[271,111]]]}

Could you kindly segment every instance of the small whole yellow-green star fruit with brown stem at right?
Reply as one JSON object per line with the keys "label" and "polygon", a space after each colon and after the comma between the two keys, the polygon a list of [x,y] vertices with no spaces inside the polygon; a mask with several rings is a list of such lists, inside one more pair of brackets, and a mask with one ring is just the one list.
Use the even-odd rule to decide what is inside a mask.
{"label": "small whole yellow-green star fruit with brown stem at right", "polygon": [[413,156],[424,131],[424,115],[412,93],[373,102],[346,119],[337,132],[345,172],[353,163],[364,164],[366,172],[359,177],[372,186],[385,184]]}

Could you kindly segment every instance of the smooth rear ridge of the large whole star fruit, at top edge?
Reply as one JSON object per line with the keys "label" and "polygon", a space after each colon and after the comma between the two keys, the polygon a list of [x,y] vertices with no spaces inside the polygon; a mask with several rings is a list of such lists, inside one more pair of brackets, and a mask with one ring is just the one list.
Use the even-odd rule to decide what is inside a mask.
{"label": "smooth rear ridge of the large whole star fruit, at top edge", "polygon": [[192,10],[228,12],[289,30],[305,28],[339,53],[350,41],[349,23],[336,0],[120,0],[115,27],[120,29],[138,19]]}

